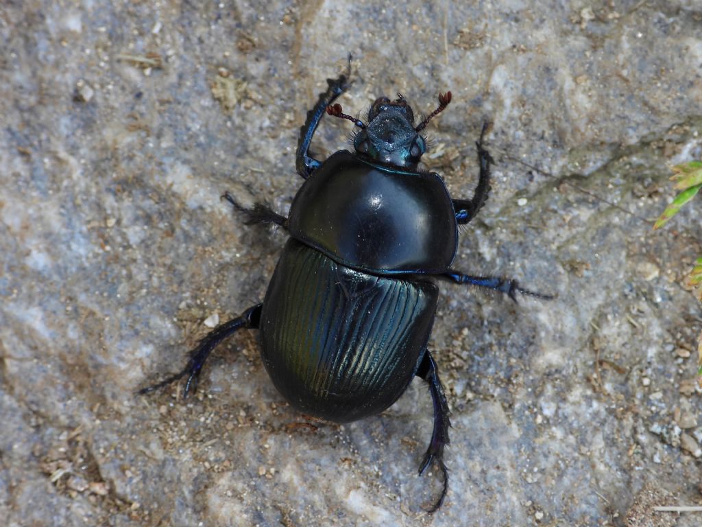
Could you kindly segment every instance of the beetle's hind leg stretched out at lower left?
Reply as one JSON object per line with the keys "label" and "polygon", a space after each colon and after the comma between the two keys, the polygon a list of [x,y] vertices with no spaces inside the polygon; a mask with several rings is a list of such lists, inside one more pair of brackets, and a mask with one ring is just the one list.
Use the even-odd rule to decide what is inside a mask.
{"label": "beetle's hind leg stretched out at lower left", "polygon": [[263,304],[256,304],[238,317],[225,322],[224,324],[218,325],[214,330],[209,332],[204,339],[200,341],[197,348],[192,350],[190,353],[190,360],[187,361],[185,368],[174,375],[164,379],[163,381],[154,384],[153,386],[147,386],[146,388],[140,389],[137,393],[143,395],[144,393],[150,393],[157,389],[168,386],[172,382],[176,382],[178,379],[182,379],[187,375],[187,382],[185,383],[185,391],[183,392],[183,398],[187,397],[187,393],[192,387],[194,389],[194,384],[197,384],[197,378],[200,375],[202,367],[205,365],[205,361],[212,351],[222,343],[224,339],[230,337],[232,334],[240,330],[242,327],[246,329],[258,329],[258,323],[260,322],[261,308]]}

